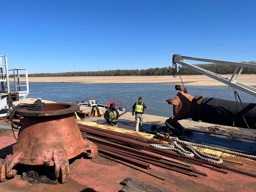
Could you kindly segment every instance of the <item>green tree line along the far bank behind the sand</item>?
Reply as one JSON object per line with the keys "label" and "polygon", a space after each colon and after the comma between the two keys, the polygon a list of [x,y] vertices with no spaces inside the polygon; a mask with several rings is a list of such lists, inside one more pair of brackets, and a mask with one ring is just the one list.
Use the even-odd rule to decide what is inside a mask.
{"label": "green tree line along the far bank behind the sand", "polygon": [[[244,62],[256,64],[255,61]],[[178,66],[178,64],[177,64]],[[235,66],[223,65],[218,63],[212,64],[195,64],[208,71],[217,74],[232,74]],[[200,73],[184,66],[178,66],[180,75],[200,75]],[[172,67],[150,68],[150,69],[135,69],[135,70],[106,70],[106,71],[81,71],[81,72],[63,72],[63,73],[37,73],[29,74],[29,77],[59,77],[59,76],[151,76],[151,75],[172,75]],[[256,74],[256,68],[244,67],[241,74]],[[11,75],[10,75],[11,76]]]}

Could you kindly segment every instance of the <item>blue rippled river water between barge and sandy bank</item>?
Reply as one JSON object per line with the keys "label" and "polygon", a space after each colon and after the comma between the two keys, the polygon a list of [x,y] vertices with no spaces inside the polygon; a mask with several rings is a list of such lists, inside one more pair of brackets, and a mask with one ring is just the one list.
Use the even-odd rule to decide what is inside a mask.
{"label": "blue rippled river water between barge and sandy bank", "polygon": [[[96,99],[99,104],[106,104],[109,100],[122,101],[126,110],[132,110],[138,97],[148,106],[146,114],[172,117],[173,107],[166,100],[173,99],[178,91],[175,85],[169,83],[118,83],[118,84],[79,84],[79,83],[30,83],[28,98],[42,98],[65,103]],[[234,91],[228,87],[187,87],[192,96],[215,97],[234,100]],[[237,90],[243,102],[255,103],[254,96]]]}

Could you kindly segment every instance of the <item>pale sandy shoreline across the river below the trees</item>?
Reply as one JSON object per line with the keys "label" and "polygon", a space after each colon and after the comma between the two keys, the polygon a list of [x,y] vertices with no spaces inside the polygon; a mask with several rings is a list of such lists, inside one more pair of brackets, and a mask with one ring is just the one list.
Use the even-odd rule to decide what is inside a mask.
{"label": "pale sandy shoreline across the river below the trees", "polygon": [[[231,75],[223,75],[228,78]],[[185,86],[227,86],[205,75],[182,75]],[[256,86],[256,74],[240,75],[238,81],[250,86]],[[75,82],[86,84],[104,83],[170,83],[182,84],[179,76],[87,76],[87,77],[29,77],[29,83],[39,82]]]}

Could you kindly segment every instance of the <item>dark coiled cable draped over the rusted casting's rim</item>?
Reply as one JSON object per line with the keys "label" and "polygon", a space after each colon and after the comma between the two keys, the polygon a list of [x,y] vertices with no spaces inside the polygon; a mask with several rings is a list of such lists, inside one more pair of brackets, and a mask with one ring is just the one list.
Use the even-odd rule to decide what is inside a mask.
{"label": "dark coiled cable draped over the rusted casting's rim", "polygon": [[[15,137],[14,135],[14,130],[13,129],[20,129],[19,127],[22,126],[22,123],[23,123],[23,116],[17,116],[16,115],[16,110],[17,109],[28,109],[28,110],[31,110],[31,111],[43,111],[45,110],[45,103],[42,103],[41,100],[36,100],[33,104],[28,104],[28,103],[20,103],[18,105],[16,105],[15,107],[13,107],[6,115],[5,117],[5,122],[8,122],[8,121],[11,121],[11,129],[12,129],[12,133],[13,133],[13,136],[14,138],[17,140],[17,138]],[[20,120],[20,123],[18,126],[14,126],[13,124],[13,119],[19,119]]]}

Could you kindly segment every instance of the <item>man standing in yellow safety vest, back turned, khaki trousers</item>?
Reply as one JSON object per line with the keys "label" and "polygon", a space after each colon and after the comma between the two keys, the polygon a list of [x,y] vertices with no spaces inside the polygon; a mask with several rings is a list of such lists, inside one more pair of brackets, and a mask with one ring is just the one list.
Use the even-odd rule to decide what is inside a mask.
{"label": "man standing in yellow safety vest, back turned, khaki trousers", "polygon": [[142,123],[143,123],[143,117],[144,117],[144,111],[145,109],[148,109],[145,103],[142,102],[142,97],[139,97],[139,101],[135,102],[133,105],[133,113],[134,116],[135,112],[135,131],[142,132]]}

